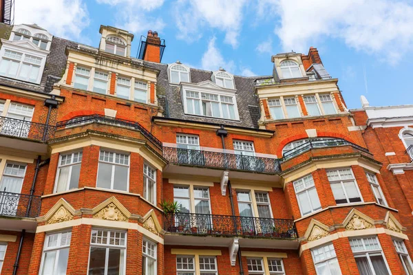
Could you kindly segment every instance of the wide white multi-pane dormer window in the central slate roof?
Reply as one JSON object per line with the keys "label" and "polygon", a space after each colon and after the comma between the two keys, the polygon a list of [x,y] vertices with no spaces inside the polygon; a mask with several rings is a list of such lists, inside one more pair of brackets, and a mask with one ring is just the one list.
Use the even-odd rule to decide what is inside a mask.
{"label": "wide white multi-pane dormer window in the central slate roof", "polygon": [[185,113],[237,120],[235,96],[184,91]]}

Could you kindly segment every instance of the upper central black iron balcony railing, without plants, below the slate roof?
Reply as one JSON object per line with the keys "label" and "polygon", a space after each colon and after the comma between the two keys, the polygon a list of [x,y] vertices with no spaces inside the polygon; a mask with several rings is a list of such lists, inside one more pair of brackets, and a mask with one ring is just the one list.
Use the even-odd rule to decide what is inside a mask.
{"label": "upper central black iron balcony railing, without plants, below the slate roof", "polygon": [[279,173],[278,159],[200,151],[176,147],[163,147],[163,156],[169,164],[204,166],[230,170],[246,170],[259,173]]}

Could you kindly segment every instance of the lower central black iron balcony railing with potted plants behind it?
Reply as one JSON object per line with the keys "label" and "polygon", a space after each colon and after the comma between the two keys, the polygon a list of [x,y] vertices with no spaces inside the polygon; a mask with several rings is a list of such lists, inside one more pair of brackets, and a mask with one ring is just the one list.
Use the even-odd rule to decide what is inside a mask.
{"label": "lower central black iron balcony railing with potted plants behind it", "polygon": [[224,216],[214,214],[176,213],[164,216],[164,230],[181,234],[220,236],[298,237],[292,219]]}

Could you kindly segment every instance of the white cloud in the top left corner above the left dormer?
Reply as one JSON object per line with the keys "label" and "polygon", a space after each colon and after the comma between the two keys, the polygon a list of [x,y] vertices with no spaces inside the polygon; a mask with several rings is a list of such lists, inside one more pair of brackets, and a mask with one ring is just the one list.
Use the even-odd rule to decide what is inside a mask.
{"label": "white cloud in the top left corner above the left dormer", "polygon": [[55,36],[85,41],[81,32],[89,14],[82,0],[18,0],[15,5],[15,24],[37,23]]}

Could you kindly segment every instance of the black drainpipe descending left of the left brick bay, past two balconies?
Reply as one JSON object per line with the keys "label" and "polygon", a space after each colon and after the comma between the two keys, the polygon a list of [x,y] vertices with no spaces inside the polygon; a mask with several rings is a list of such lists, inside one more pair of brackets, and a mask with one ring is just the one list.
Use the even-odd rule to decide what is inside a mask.
{"label": "black drainpipe descending left of the left brick bay, past two balconies", "polygon": [[[42,138],[43,142],[46,141],[46,137],[47,137],[47,132],[48,132],[48,128],[49,128],[49,121],[50,121],[50,113],[52,113],[52,108],[57,107],[58,103],[59,102],[56,100],[56,96],[54,96],[54,95],[52,96],[52,98],[47,98],[45,100],[45,106],[49,107],[49,110],[47,111],[45,129],[44,129],[44,132],[43,132],[43,138]],[[32,181],[32,188],[30,188],[30,197],[29,197],[28,209],[26,210],[26,213],[25,213],[26,217],[28,217],[30,215],[30,208],[32,208],[32,199],[33,199],[33,194],[34,194],[34,187],[36,186],[36,179],[37,179],[37,174],[39,173],[40,162],[41,162],[41,155],[39,155],[37,157],[36,168],[34,168],[34,177],[33,177],[33,181]],[[14,265],[13,265],[13,275],[17,274],[17,269],[19,268],[19,259],[20,259],[20,254],[21,254],[21,247],[23,246],[24,235],[25,235],[25,229],[21,230],[19,249],[17,250],[16,261],[14,262]]]}

